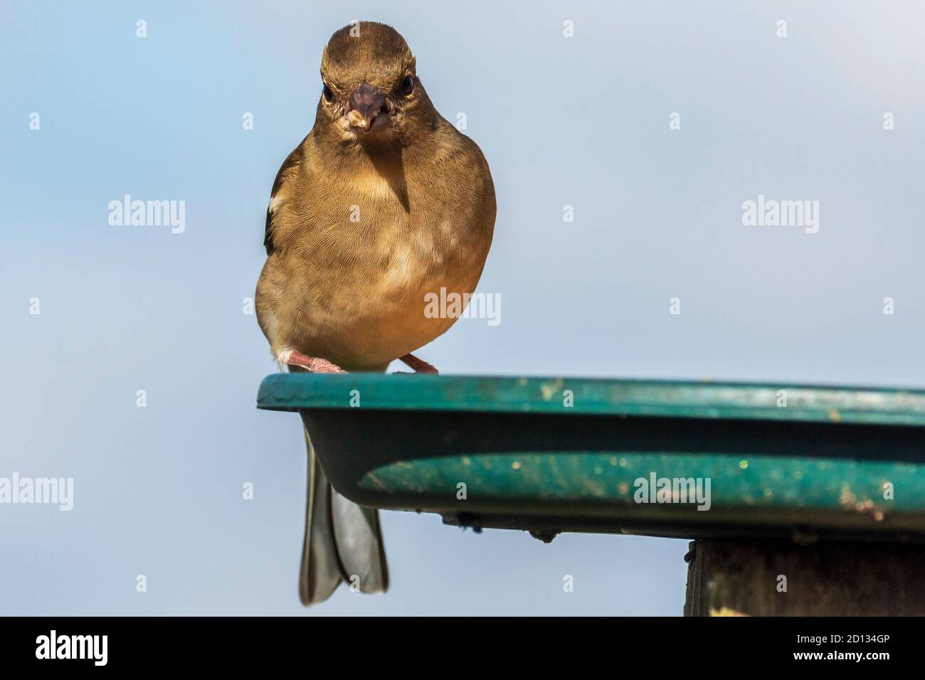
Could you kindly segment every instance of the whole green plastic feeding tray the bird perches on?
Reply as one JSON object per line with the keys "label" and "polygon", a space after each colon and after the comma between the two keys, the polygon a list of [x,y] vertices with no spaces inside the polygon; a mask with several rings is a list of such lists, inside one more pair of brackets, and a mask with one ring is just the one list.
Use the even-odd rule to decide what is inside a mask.
{"label": "whole green plastic feeding tray the bird perches on", "polygon": [[448,524],[925,540],[925,391],[302,373],[257,405],[352,501]]}

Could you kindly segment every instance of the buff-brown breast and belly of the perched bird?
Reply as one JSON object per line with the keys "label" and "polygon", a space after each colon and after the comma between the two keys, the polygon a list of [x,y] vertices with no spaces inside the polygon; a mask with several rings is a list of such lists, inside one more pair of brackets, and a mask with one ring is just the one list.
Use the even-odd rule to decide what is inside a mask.
{"label": "buff-brown breast and belly of the perched bird", "polygon": [[427,300],[475,291],[494,222],[493,193],[483,200],[471,172],[445,163],[360,167],[336,180],[314,174],[302,195],[281,208],[290,210],[279,219],[290,225],[280,237],[288,247],[268,262],[265,289],[274,293],[258,301],[273,317],[275,348],[357,370],[450,328],[456,319],[428,315]]}

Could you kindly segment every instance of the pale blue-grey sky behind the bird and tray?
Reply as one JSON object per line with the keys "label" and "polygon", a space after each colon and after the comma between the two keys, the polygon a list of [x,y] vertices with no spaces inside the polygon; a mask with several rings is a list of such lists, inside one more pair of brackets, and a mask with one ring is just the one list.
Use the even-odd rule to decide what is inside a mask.
{"label": "pale blue-grey sky behind the bird and tray", "polygon": [[[254,408],[241,301],[351,19],[401,31],[494,177],[501,323],[419,352],[443,372],[925,387],[919,2],[0,0],[0,476],[75,484],[0,506],[0,613],[682,612],[685,541],[413,513],[383,515],[387,596],[300,605],[302,426]],[[109,226],[125,193],[184,200],[185,233]],[[818,200],[819,233],[743,227],[759,193]]]}

